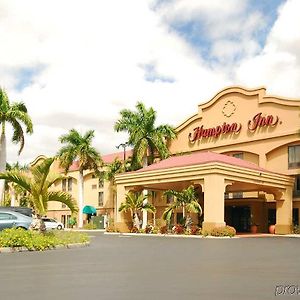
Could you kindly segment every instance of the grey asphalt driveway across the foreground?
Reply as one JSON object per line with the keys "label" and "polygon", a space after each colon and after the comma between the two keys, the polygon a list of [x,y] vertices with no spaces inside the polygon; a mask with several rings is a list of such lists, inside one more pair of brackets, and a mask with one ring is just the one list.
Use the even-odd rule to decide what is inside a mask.
{"label": "grey asphalt driveway across the foreground", "polygon": [[0,254],[1,299],[291,299],[300,292],[298,238],[90,234],[89,247]]}

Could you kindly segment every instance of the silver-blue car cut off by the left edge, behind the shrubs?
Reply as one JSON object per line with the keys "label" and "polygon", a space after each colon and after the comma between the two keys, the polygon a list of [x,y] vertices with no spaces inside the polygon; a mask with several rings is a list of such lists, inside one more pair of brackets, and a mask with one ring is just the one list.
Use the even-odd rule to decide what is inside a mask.
{"label": "silver-blue car cut off by the left edge, behind the shrubs", "polygon": [[0,230],[5,228],[29,229],[32,218],[11,210],[0,210]]}

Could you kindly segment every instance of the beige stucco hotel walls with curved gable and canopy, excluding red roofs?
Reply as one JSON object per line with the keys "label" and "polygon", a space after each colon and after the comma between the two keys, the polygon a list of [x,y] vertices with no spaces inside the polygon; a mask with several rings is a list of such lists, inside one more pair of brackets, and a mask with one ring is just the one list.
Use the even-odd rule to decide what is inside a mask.
{"label": "beige stucco hotel walls with curved gable and canopy, excluding red roofs", "polygon": [[[99,183],[91,171],[86,171],[84,205],[94,206],[99,215],[108,214],[120,230],[126,231],[130,216],[119,213],[117,208],[128,191],[148,191],[149,202],[156,207],[155,216],[148,214],[148,223],[153,224],[161,219],[168,205],[163,192],[182,190],[192,184],[204,210],[201,218],[192,217],[203,229],[229,224],[237,231],[247,232],[255,223],[259,232],[267,232],[268,226],[276,223],[277,233],[290,233],[300,219],[299,130],[300,100],[268,96],[264,88],[224,89],[199,105],[196,113],[176,128],[177,138],[169,143],[171,154],[210,151],[241,158],[262,170],[222,161],[194,163],[124,173],[116,176],[115,185]],[[289,151],[296,153],[295,162],[289,161]],[[57,162],[53,171],[63,174]],[[72,178],[69,192],[75,199],[78,176],[76,168],[65,175],[66,179]],[[55,188],[62,189],[62,182],[56,183]],[[177,215],[181,213],[178,210]],[[70,212],[61,204],[52,203],[48,215],[67,224]],[[176,218],[175,215],[174,223]]]}

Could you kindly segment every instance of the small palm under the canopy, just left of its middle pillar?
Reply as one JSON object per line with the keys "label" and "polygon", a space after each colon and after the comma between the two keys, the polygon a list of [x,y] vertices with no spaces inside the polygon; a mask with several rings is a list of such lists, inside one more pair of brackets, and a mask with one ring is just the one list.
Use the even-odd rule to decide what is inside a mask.
{"label": "small palm under the canopy, just left of its middle pillar", "polygon": [[164,193],[165,196],[173,196],[174,201],[165,209],[163,213],[163,219],[170,221],[172,214],[178,208],[182,208],[183,218],[185,218],[185,212],[188,213],[198,213],[202,215],[202,208],[197,201],[197,195],[194,187],[191,185],[186,189],[183,189],[181,192],[175,190],[168,190]]}

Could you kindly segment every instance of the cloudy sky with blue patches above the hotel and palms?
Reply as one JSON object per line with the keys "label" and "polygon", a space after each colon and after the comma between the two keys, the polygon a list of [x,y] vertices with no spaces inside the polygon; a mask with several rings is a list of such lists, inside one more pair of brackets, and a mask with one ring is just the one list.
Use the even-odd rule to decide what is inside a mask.
{"label": "cloudy sky with blue patches above the hotel and palms", "polygon": [[[20,156],[53,156],[72,128],[102,154],[138,101],[180,125],[231,85],[300,99],[299,0],[0,0],[0,86],[34,124]],[[8,132],[10,135],[10,132]]]}

